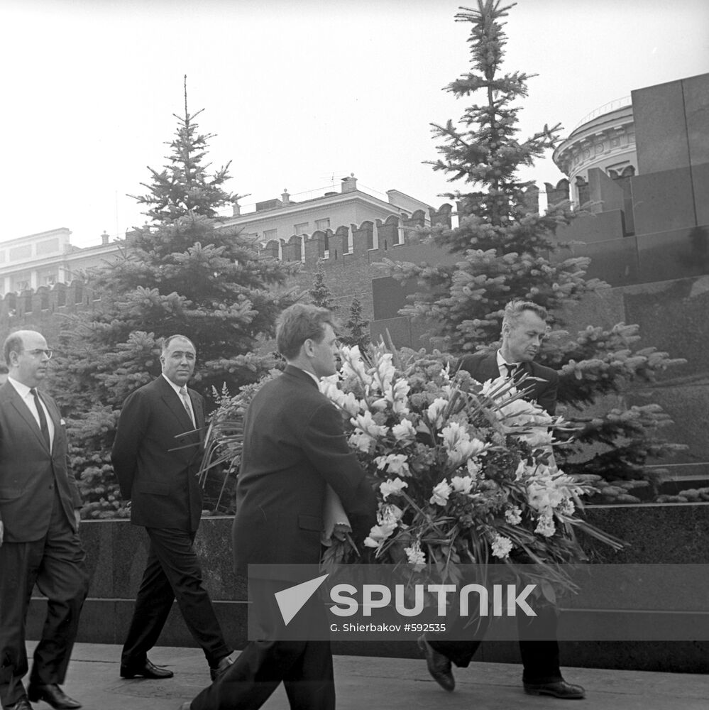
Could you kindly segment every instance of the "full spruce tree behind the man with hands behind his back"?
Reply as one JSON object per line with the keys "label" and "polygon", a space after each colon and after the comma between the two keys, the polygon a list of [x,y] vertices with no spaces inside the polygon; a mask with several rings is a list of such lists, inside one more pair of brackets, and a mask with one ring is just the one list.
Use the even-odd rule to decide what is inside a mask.
{"label": "full spruce tree behind the man with hands behind his back", "polygon": [[209,173],[212,136],[199,133],[195,116],[185,94],[167,165],[149,168],[148,192],[136,198],[151,224],[128,236],[113,263],[86,274],[100,300],[60,334],[57,399],[88,517],[125,512],[109,453],[123,401],[160,374],[160,339],[183,334],[194,342],[191,386],[209,409],[215,389],[236,393],[273,366],[272,356],[254,351],[295,300],[286,288],[290,268],[221,225],[219,209],[238,198],[224,189],[229,165]]}

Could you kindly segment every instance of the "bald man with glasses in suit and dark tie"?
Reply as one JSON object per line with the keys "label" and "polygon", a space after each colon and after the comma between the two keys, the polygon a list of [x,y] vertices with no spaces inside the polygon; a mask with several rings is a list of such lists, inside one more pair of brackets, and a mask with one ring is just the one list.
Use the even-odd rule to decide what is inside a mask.
{"label": "bald man with glasses in suit and dark tie", "polygon": [[[9,378],[0,387],[0,701],[5,710],[81,704],[62,691],[88,577],[79,540],[82,505],[67,471],[67,438],[57,405],[37,386],[52,356],[33,330],[4,345]],[[33,586],[48,599],[27,691],[25,621]]]}

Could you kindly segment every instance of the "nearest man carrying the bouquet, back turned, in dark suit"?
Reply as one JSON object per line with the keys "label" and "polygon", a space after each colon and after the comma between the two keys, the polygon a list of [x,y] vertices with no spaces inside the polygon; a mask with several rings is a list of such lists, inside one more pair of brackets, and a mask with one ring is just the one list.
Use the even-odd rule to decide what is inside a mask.
{"label": "nearest man carrying the bouquet, back turned, in dark suit", "polygon": [[[280,316],[277,344],[287,367],[258,391],[244,422],[233,525],[236,571],[242,575],[248,564],[317,567],[328,484],[340,498],[355,540],[376,522],[375,495],[348,447],[341,414],[318,388],[319,378],[336,372],[330,312],[291,306]],[[252,600],[269,589],[268,583],[258,587],[262,596],[256,596],[259,582],[248,579]],[[314,626],[324,623],[324,609],[318,607],[316,615],[318,610]],[[255,710],[283,682],[292,709],[333,710],[329,640],[266,636],[251,640],[219,681],[182,708]]]}

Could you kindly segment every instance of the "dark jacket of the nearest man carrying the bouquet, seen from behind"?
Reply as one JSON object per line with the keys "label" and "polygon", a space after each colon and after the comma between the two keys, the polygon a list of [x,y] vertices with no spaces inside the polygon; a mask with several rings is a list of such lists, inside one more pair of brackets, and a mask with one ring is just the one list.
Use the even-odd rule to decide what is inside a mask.
{"label": "dark jacket of the nearest man carrying the bouquet, seen from behind", "polygon": [[318,564],[326,485],[339,496],[355,539],[376,522],[376,498],[348,447],[342,415],[297,367],[258,391],[244,422],[236,486],[234,557],[253,564]]}

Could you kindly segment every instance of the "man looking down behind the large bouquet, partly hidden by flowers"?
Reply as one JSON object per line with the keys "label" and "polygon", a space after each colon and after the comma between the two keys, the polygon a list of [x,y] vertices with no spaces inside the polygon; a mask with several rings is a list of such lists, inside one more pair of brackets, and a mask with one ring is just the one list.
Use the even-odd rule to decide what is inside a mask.
{"label": "man looking down behind the large bouquet, partly hidden by flowers", "polygon": [[[536,303],[510,301],[502,317],[500,349],[492,354],[463,356],[458,368],[471,373],[478,382],[500,376],[518,380],[527,375],[527,379],[520,384],[524,389],[524,398],[536,402],[550,415],[554,415],[559,374],[556,370],[534,362],[546,335],[547,318],[546,309]],[[542,606],[534,608],[534,611],[536,617],[517,616],[520,655],[524,667],[524,692],[561,699],[583,698],[584,689],[580,685],[567,683],[561,676],[559,643],[556,641],[556,610]],[[486,624],[483,623],[481,627],[485,628]],[[478,633],[478,636],[482,633]],[[456,630],[453,634],[456,635]],[[451,661],[458,667],[468,667],[479,645],[480,639],[446,640],[429,638],[427,635],[419,638],[419,647],[426,655],[429,672],[446,690],[455,687]]]}

